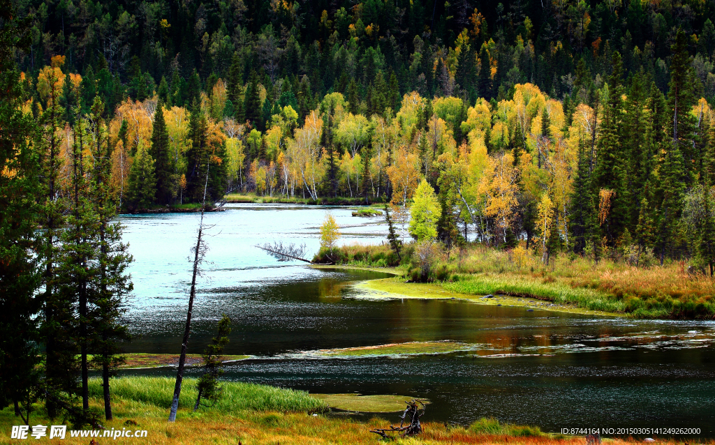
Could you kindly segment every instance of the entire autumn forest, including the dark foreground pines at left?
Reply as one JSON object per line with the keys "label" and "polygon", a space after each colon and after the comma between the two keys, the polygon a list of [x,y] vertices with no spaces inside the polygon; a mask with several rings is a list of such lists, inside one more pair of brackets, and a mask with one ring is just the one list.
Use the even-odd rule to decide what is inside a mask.
{"label": "entire autumn forest, including the dark foreground pines at left", "polygon": [[204,186],[389,202],[403,225],[414,207],[439,215],[417,239],[526,241],[546,264],[713,274],[712,0],[0,6],[0,404],[24,416],[40,397],[86,422],[63,397],[86,410],[94,366],[111,418],[115,217]]}

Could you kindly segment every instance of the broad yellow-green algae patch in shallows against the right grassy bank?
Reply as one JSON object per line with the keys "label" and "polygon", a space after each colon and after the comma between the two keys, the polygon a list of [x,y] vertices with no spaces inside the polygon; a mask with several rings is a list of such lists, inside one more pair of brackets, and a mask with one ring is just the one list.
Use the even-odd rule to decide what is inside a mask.
{"label": "broad yellow-green algae patch in shallows against the right grassy bank", "polygon": [[[521,306],[526,309],[568,312],[593,316],[623,316],[615,311],[599,311],[577,306],[576,302],[551,301],[546,298],[530,296],[528,289],[518,292],[519,283],[513,279],[494,276],[473,275],[464,281],[437,283],[406,283],[404,278],[394,276],[385,279],[362,281],[355,284],[360,297],[368,299],[461,299],[476,304]],[[525,284],[526,286],[526,284]],[[512,295],[499,294],[500,289],[510,289]],[[458,292],[458,291],[464,291]],[[555,289],[555,292],[568,292],[568,289]],[[485,298],[494,294],[493,298]],[[561,294],[555,294],[561,295]]]}

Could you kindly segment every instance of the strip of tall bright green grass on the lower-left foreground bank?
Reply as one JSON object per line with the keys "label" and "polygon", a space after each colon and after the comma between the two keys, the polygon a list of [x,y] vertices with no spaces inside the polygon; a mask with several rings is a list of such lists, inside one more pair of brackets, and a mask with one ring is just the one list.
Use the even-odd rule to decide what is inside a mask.
{"label": "strip of tall bright green grass on the lower-left foreground bank", "polygon": [[[112,379],[112,395],[120,399],[142,402],[148,405],[168,408],[174,394],[174,378],[170,377],[121,377]],[[180,406],[194,406],[196,401],[197,379],[184,379]],[[90,379],[89,395],[102,397],[102,382]],[[325,402],[308,396],[305,391],[281,389],[275,386],[249,384],[242,382],[223,382],[222,398],[211,411],[235,413],[237,411],[281,411],[281,412],[323,412],[327,410]]]}

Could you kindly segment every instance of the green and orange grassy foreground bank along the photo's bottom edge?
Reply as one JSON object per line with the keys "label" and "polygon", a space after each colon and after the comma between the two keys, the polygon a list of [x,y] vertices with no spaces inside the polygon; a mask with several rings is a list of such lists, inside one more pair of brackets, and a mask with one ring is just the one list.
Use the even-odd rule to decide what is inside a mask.
{"label": "green and orange grassy foreground bank along the photo's bottom edge", "polygon": [[[271,386],[225,382],[225,398],[211,407],[202,407],[194,413],[196,391],[194,379],[184,379],[177,421],[167,423],[169,403],[173,392],[173,379],[149,377],[124,377],[112,379],[114,420],[105,421],[106,429],[147,430],[144,438],[115,440],[99,437],[98,444],[242,444],[242,445],[292,445],[292,444],[380,444],[378,436],[369,429],[384,428],[390,421],[398,420],[397,414],[380,414],[369,421],[355,421],[344,417],[317,414],[326,409],[330,399],[351,399],[353,408],[360,409],[368,403],[363,396],[352,394],[320,394],[309,396],[303,391],[278,389]],[[90,384],[92,409],[102,406],[99,381]],[[370,396],[368,396],[370,397]],[[323,401],[325,399],[326,401]],[[352,400],[354,399],[354,400]],[[373,399],[375,399],[373,397]],[[395,396],[380,396],[383,409],[396,409]],[[369,404],[374,406],[374,401]],[[30,419],[31,425],[61,424],[61,419],[50,421],[39,411]],[[0,430],[11,441],[13,425],[21,424],[11,407],[0,411]],[[554,436],[543,434],[533,426],[501,424],[493,419],[480,419],[472,426],[449,426],[426,422],[425,432],[415,439],[402,439],[395,444],[532,444],[576,445],[583,444],[583,437]],[[49,431],[49,430],[48,430]],[[44,444],[87,445],[89,438],[72,438],[69,431],[66,439],[49,440],[46,436],[32,442]],[[659,441],[674,444],[673,441]],[[614,444],[628,443],[620,440]],[[629,443],[635,443],[631,441]],[[713,441],[706,442],[713,444]]]}

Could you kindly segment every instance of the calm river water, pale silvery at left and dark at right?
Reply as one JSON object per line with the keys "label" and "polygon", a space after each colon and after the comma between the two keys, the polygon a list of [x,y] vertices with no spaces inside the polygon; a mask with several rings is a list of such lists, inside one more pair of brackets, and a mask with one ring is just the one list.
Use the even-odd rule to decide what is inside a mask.
{"label": "calm river water, pale silvery at left and dark at right", "polygon": [[[314,253],[327,211],[342,228],[342,243],[383,241],[380,218],[352,217],[347,208],[236,204],[207,214],[209,251],[189,353],[202,351],[225,313],[233,321],[227,354],[256,357],[229,366],[230,380],[315,393],[426,397],[432,404],[425,419],[433,421],[469,424],[495,416],[546,431],[687,427],[715,437],[715,322],[528,312],[460,300],[375,301],[351,284],[385,274],[315,270],[255,248],[280,240],[305,243]],[[127,352],[178,354],[198,221],[197,214],[122,216],[124,241],[134,255],[126,317],[137,336]],[[403,358],[297,354],[440,340],[476,346]]]}

